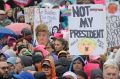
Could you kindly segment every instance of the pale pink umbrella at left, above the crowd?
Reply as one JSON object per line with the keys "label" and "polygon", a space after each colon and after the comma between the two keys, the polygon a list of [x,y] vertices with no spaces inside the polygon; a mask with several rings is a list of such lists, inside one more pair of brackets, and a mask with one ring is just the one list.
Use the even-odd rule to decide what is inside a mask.
{"label": "pale pink umbrella at left, above the crowd", "polygon": [[12,31],[14,31],[17,35],[21,35],[21,31],[24,28],[28,28],[29,30],[31,30],[31,26],[29,24],[26,23],[12,23],[8,26],[6,26],[6,28],[11,29]]}

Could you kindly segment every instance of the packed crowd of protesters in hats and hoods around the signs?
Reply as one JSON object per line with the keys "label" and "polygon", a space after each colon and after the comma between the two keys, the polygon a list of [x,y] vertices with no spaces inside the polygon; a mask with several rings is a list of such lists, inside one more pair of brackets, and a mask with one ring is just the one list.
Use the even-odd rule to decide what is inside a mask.
{"label": "packed crowd of protesters in hats and hoods around the signs", "polygon": [[[94,4],[92,0],[77,3]],[[71,4],[66,0],[60,6]],[[60,16],[60,30],[67,29],[66,19]],[[25,23],[22,8],[0,10],[0,28],[15,22]],[[51,37],[44,23],[35,31],[38,45],[33,44],[33,30],[26,28],[17,38],[6,35],[0,39],[0,79],[120,79],[119,47],[109,48],[100,56],[73,56],[68,39],[60,31]]]}

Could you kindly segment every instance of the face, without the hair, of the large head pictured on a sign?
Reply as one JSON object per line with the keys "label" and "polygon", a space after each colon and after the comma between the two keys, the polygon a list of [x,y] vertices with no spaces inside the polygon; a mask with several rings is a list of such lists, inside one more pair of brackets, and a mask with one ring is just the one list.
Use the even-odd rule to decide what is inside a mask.
{"label": "face, without the hair, of the large head pictured on a sign", "polygon": [[46,45],[48,42],[48,34],[46,32],[38,32],[37,41],[40,45]]}

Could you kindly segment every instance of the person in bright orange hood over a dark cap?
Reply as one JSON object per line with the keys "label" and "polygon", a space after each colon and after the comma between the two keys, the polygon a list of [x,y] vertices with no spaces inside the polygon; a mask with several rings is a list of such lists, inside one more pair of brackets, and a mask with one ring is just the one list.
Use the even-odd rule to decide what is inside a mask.
{"label": "person in bright orange hood over a dark cap", "polygon": [[56,79],[56,71],[54,60],[46,58],[42,61],[41,66],[39,66],[39,71],[45,72],[47,79]]}

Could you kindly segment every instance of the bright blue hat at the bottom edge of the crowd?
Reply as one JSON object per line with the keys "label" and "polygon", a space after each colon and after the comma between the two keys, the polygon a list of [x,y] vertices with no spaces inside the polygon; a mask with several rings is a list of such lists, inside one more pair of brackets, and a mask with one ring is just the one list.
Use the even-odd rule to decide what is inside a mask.
{"label": "bright blue hat at the bottom edge of the crowd", "polygon": [[17,79],[35,79],[31,73],[26,71],[21,72],[19,75],[14,74],[13,76]]}

